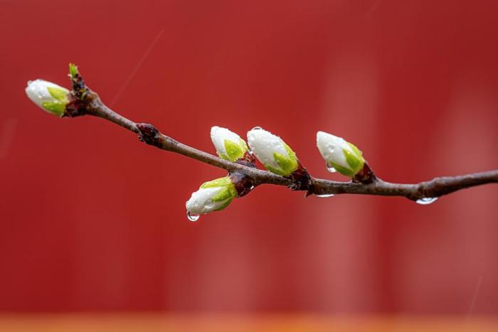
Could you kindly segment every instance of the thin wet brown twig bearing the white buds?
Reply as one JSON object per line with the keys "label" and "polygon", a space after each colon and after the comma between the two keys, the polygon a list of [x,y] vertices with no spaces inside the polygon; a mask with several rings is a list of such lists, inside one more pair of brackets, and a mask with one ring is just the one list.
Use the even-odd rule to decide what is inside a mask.
{"label": "thin wet brown twig bearing the white buds", "polygon": [[70,92],[70,103],[66,107],[64,117],[78,117],[82,115],[93,115],[106,119],[110,122],[128,129],[139,136],[145,143],[156,146],[159,149],[182,154],[206,164],[223,168],[229,172],[243,174],[247,177],[251,186],[261,184],[272,184],[287,186],[294,190],[307,191],[309,195],[329,194],[359,194],[378,196],[402,196],[410,200],[421,198],[435,198],[461,189],[480,186],[486,183],[498,183],[498,170],[470,173],[462,176],[443,176],[433,178],[430,181],[420,183],[390,183],[373,177],[371,183],[361,182],[339,182],[329,181],[309,176],[308,186],[297,185],[297,179],[278,176],[269,171],[263,171],[243,163],[233,163],[182,144],[169,136],[159,132],[152,124],[136,123],[123,117],[117,112],[105,106],[95,92],[85,86],[80,75],[72,77],[73,91]]}

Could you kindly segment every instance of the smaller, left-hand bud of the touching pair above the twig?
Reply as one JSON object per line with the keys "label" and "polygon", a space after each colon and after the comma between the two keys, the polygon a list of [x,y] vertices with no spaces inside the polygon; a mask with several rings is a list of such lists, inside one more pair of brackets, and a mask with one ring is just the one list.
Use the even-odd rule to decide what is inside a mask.
{"label": "smaller, left-hand bud of the touching pair above the twig", "polygon": [[230,130],[222,127],[211,128],[211,141],[221,159],[237,161],[248,151],[248,144]]}

